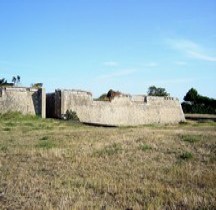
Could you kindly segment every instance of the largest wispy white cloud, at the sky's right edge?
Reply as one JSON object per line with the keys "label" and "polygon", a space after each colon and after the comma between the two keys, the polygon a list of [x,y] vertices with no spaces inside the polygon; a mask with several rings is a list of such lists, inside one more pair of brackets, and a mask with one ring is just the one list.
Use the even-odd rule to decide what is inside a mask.
{"label": "largest wispy white cloud, at the sky's right edge", "polygon": [[201,45],[187,39],[168,39],[167,43],[190,58],[216,62],[216,56],[210,56]]}

